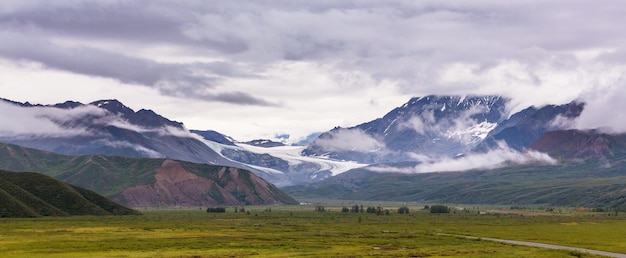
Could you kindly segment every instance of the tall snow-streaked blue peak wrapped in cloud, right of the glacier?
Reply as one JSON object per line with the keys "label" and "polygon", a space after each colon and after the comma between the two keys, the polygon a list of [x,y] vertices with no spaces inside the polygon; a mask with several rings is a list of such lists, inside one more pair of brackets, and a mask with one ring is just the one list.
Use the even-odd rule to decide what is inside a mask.
{"label": "tall snow-streaked blue peak wrapped in cloud, right of the glacier", "polygon": [[461,155],[507,118],[507,102],[499,96],[413,98],[382,118],[324,133],[303,153],[363,163]]}

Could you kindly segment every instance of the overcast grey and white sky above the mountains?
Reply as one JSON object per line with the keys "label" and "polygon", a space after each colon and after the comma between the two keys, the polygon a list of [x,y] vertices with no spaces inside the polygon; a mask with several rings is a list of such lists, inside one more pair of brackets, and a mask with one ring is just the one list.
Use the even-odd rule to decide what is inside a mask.
{"label": "overcast grey and white sky above the mountains", "polygon": [[[118,99],[188,129],[296,142],[411,97],[587,103],[626,132],[622,1],[0,2],[0,97]],[[0,112],[9,112],[8,109]]]}

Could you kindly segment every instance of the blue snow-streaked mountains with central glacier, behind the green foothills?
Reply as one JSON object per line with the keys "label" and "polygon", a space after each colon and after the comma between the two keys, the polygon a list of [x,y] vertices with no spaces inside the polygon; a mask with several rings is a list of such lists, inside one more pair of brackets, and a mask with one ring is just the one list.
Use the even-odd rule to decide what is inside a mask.
{"label": "blue snow-streaked mountains with central glacier, behind the green foothills", "polygon": [[[583,104],[530,107],[510,117],[499,96],[413,98],[382,118],[323,133],[308,146],[246,143],[216,131],[187,130],[151,110],[117,100],[33,105],[0,101],[0,142],[69,155],[160,157],[248,169],[278,185],[308,184],[387,162],[457,158],[504,143],[522,150],[566,129]],[[11,121],[19,121],[11,123]]]}

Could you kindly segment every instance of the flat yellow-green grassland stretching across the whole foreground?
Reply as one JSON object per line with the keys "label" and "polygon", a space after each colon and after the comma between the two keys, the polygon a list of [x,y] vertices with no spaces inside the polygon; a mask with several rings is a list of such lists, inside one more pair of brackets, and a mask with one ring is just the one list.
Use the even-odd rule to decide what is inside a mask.
{"label": "flat yellow-green grassland stretching across the whole foreground", "polygon": [[[423,207],[423,206],[422,206]],[[594,257],[439,233],[626,253],[626,214],[342,213],[341,206],[141,210],[141,216],[0,219],[0,257]],[[267,209],[271,208],[271,212]],[[488,208],[481,208],[483,211]],[[507,211],[508,212],[508,211]]]}

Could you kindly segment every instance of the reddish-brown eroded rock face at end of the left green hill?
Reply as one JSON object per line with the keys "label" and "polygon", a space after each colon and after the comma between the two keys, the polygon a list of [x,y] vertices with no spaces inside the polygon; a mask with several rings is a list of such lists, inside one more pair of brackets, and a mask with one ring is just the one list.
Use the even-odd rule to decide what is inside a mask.
{"label": "reddish-brown eroded rock face at end of the left green hill", "polygon": [[274,204],[272,185],[236,168],[222,167],[215,178],[187,171],[178,161],[165,160],[152,185],[129,187],[111,199],[131,207]]}

